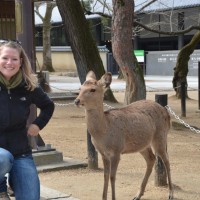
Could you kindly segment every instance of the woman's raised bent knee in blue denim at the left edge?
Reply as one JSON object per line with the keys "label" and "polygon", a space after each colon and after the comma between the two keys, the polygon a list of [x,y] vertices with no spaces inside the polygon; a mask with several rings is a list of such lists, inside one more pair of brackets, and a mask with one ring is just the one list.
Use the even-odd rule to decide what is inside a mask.
{"label": "woman's raised bent knee in blue denim at the left edge", "polygon": [[3,176],[11,170],[13,160],[13,155],[9,151],[0,148],[0,176]]}

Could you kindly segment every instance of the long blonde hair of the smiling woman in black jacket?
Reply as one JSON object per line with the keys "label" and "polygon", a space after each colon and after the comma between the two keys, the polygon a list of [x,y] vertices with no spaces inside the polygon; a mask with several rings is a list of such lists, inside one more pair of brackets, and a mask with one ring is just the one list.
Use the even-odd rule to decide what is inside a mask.
{"label": "long blonde hair of the smiling woman in black jacket", "polygon": [[34,90],[38,86],[38,79],[36,74],[32,70],[30,60],[23,47],[16,41],[0,42],[0,51],[3,47],[10,47],[16,49],[19,52],[19,56],[21,59],[22,75],[27,84],[27,90]]}

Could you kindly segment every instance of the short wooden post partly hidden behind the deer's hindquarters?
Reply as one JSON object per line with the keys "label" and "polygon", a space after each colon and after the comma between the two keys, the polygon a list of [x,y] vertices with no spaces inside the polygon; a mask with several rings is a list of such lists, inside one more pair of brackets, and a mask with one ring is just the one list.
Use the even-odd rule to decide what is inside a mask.
{"label": "short wooden post partly hidden behind the deer's hindquarters", "polygon": [[[155,101],[161,106],[167,105],[167,94],[156,94]],[[156,155],[155,163],[155,185],[156,186],[165,186],[167,185],[167,174],[165,166],[162,160]]]}

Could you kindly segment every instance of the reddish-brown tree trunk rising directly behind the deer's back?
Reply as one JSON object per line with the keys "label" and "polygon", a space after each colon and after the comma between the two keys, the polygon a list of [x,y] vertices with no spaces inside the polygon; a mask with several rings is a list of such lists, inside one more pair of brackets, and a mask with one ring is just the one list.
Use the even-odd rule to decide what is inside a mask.
{"label": "reddish-brown tree trunk rising directly behind the deer's back", "polygon": [[113,0],[112,50],[126,80],[125,104],[146,98],[143,72],[133,54],[133,9],[133,1]]}

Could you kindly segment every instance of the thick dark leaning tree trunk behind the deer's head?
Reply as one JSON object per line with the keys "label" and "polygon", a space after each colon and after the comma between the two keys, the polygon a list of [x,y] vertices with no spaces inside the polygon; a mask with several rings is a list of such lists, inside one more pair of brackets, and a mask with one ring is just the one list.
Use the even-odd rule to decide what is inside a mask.
{"label": "thick dark leaning tree trunk behind the deer's head", "polygon": [[[79,0],[57,0],[57,6],[70,40],[81,84],[89,70],[93,70],[100,79],[105,73],[104,66]],[[111,90],[106,92],[105,98],[116,102]]]}

